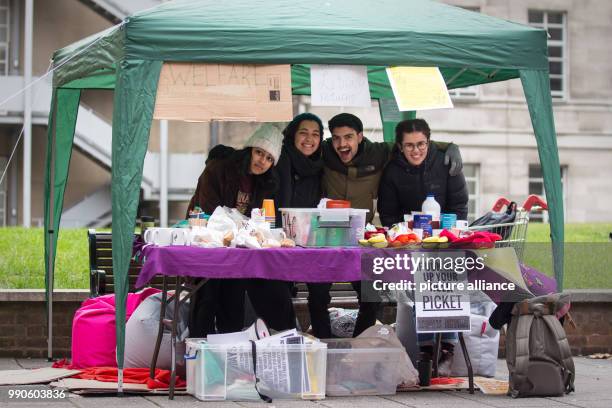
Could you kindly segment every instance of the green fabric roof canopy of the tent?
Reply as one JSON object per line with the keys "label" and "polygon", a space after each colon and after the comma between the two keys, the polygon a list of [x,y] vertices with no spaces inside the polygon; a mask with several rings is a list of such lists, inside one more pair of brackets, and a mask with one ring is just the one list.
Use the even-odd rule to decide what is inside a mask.
{"label": "green fabric roof canopy of the tent", "polygon": [[[57,51],[56,66],[79,52],[76,61],[84,55],[101,61],[88,64],[83,76],[108,68],[109,57],[438,66],[460,86],[548,69],[544,30],[429,0],[178,0]],[[74,68],[66,65],[60,78]],[[461,80],[470,72],[478,81]]]}

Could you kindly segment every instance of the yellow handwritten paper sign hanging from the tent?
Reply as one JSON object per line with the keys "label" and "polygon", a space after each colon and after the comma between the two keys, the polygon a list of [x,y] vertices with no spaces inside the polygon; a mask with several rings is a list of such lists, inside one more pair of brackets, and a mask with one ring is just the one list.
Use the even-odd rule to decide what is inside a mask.
{"label": "yellow handwritten paper sign hanging from the tent", "polygon": [[400,111],[453,107],[437,67],[391,67],[387,75]]}

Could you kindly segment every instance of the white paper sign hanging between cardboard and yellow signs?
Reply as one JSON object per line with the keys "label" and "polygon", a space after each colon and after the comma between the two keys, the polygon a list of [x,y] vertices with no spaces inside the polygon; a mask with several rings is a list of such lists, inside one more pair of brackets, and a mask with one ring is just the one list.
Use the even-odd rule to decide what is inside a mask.
{"label": "white paper sign hanging between cardboard and yellow signs", "polygon": [[311,65],[313,106],[370,107],[368,70],[356,65]]}

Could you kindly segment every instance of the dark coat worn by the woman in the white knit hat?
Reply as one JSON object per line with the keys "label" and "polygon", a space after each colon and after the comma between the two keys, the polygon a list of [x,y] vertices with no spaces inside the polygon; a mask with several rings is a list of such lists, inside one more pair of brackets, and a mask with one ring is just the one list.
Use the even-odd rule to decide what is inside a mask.
{"label": "dark coat worn by the woman in the white knit hat", "polygon": [[[198,179],[187,213],[195,206],[207,214],[212,214],[220,205],[236,207],[240,178],[247,176],[250,163],[251,148],[233,151],[223,146],[213,149]],[[261,208],[264,199],[274,199],[278,189],[278,176],[274,167],[260,176],[250,177],[253,177],[253,191],[245,214],[249,217],[253,208]]]}

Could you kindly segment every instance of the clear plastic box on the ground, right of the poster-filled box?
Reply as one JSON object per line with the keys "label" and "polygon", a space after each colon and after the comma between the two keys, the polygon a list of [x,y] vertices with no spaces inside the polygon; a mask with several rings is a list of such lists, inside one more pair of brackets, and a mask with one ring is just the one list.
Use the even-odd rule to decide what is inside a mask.
{"label": "clear plastic box on the ground, right of the poster-filled box", "polygon": [[372,347],[367,338],[322,341],[327,343],[327,395],[395,394],[401,348]]}

